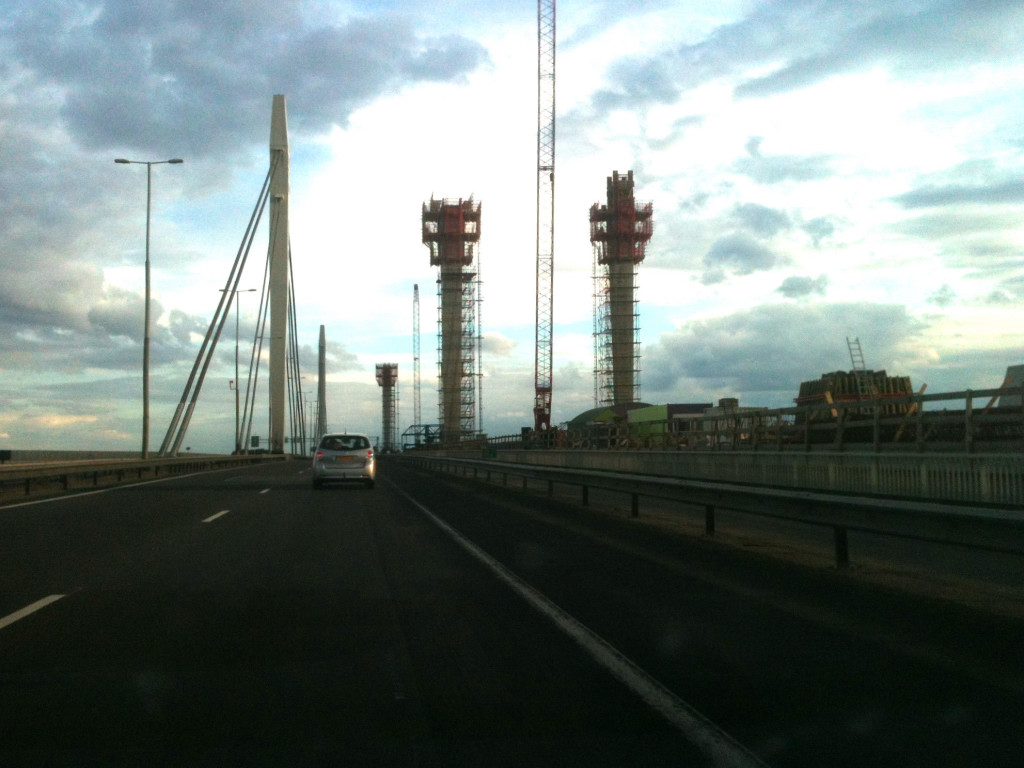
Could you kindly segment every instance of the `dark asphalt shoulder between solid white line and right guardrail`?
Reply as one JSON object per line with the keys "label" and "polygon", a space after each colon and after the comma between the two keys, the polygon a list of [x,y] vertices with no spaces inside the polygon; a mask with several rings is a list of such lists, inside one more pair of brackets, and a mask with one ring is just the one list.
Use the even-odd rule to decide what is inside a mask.
{"label": "dark asphalt shoulder between solid white line and right guardrail", "polygon": [[772,765],[1020,764],[1019,621],[443,479],[425,503],[475,488],[453,525]]}

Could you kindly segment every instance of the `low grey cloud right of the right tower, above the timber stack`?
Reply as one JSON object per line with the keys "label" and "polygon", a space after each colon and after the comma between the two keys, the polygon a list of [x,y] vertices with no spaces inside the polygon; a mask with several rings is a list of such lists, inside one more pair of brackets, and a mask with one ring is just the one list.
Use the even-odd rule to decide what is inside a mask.
{"label": "low grey cloud right of the right tower, above the timber stack", "polygon": [[796,397],[801,381],[849,368],[848,336],[859,337],[871,366],[883,368],[923,330],[900,305],[762,305],[688,323],[647,345],[644,391],[668,401],[686,401],[688,386]]}

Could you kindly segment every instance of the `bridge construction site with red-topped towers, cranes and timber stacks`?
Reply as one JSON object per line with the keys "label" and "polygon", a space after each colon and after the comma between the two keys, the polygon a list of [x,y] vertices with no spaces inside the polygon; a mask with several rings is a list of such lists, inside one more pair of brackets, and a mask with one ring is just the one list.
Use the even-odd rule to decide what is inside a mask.
{"label": "bridge construction site with red-topped towers, cranes and timber stacks", "polygon": [[[712,449],[800,443],[842,447],[869,442],[915,445],[929,440],[968,442],[979,434],[1021,439],[1020,403],[994,394],[981,414],[967,410],[938,418],[923,414],[925,388],[914,391],[909,377],[869,370],[860,339],[847,338],[849,371],[804,381],[788,409],[740,406],[734,397],[711,402],[642,401],[638,269],[653,236],[653,205],[636,199],[632,170],[606,177],[603,202],[589,211],[593,253],[593,401],[594,409],[552,423],[555,387],[552,375],[555,228],[555,3],[542,0],[538,14],[537,243],[534,423],[521,434],[500,438],[530,446]],[[582,212],[581,212],[582,213]],[[437,268],[437,418],[420,409],[420,296],[414,287],[414,423],[401,435],[401,447],[465,443],[485,438],[482,419],[479,244],[480,204],[472,198],[431,198],[422,207],[422,240]],[[378,374],[380,381],[380,374]],[[1008,379],[1010,374],[1008,372]],[[384,385],[382,384],[382,387]],[[1008,384],[1005,383],[1005,386]],[[1018,383],[1019,386],[1019,383]],[[385,388],[385,397],[387,389]],[[963,393],[949,399],[963,400]],[[941,398],[940,398],[941,399]],[[1007,409],[1016,416],[1005,419]],[[387,412],[387,406],[385,406]],[[967,413],[967,426],[963,414]],[[976,418],[972,422],[972,416]],[[991,417],[991,418],[989,418]],[[385,425],[387,421],[385,413]],[[995,421],[992,421],[995,419]],[[980,420],[980,421],[978,421]],[[986,422],[986,420],[988,420]],[[926,424],[927,422],[927,424]],[[944,423],[945,423],[944,422]],[[980,427],[979,427],[980,428]],[[972,431],[974,430],[974,431]],[[385,426],[385,444],[398,439]]]}

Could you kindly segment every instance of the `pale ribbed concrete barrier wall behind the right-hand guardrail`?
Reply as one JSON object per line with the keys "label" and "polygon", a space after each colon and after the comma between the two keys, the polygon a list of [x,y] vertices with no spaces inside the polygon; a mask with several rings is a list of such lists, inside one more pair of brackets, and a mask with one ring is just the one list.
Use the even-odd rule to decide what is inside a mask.
{"label": "pale ribbed concrete barrier wall behind the right-hand guardrail", "polygon": [[[445,453],[445,452],[441,452]],[[467,452],[454,452],[453,456]],[[933,501],[1024,505],[1016,454],[501,451],[499,461]]]}

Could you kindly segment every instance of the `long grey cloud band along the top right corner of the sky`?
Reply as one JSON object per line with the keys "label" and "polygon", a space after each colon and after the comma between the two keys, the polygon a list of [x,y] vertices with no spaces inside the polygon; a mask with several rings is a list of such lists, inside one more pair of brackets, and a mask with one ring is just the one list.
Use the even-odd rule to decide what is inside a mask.
{"label": "long grey cloud band along the top right corner of the sky", "polygon": [[[886,65],[930,72],[1005,63],[1021,55],[1024,8],[1000,0],[778,0],[758,3],[739,20],[698,42],[653,49],[616,61],[592,109],[636,110],[675,100],[723,79],[740,97],[806,88],[836,75]],[[777,62],[763,74],[766,62]],[[748,73],[757,72],[755,76]]]}

